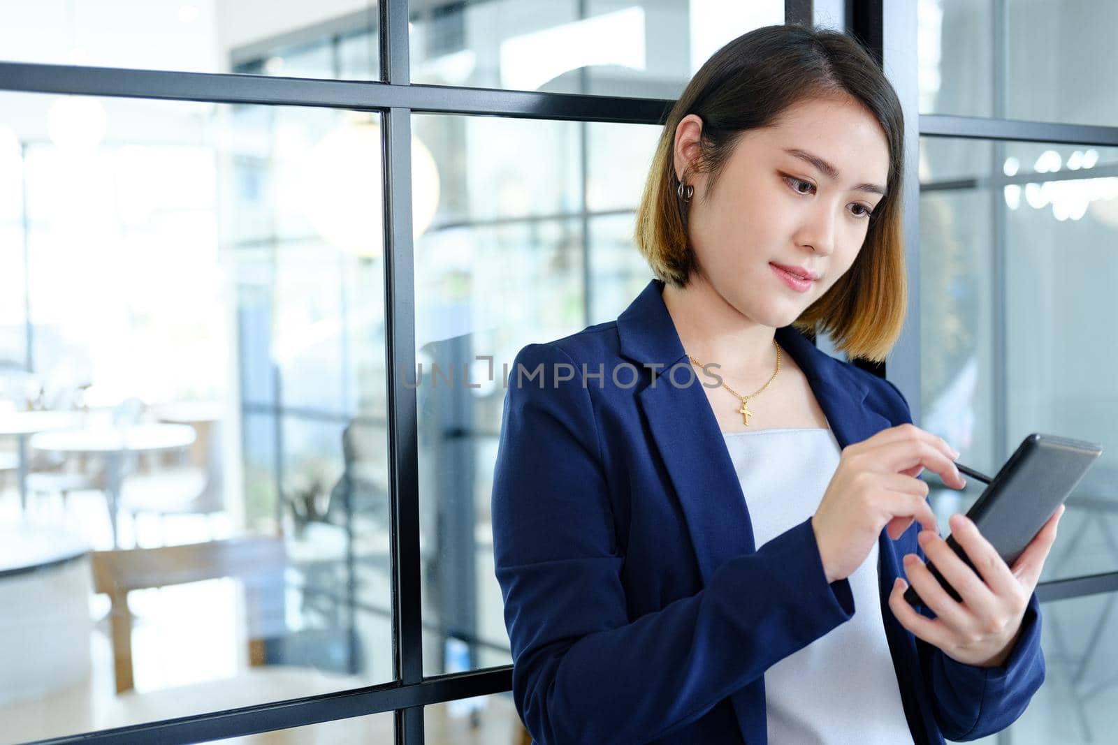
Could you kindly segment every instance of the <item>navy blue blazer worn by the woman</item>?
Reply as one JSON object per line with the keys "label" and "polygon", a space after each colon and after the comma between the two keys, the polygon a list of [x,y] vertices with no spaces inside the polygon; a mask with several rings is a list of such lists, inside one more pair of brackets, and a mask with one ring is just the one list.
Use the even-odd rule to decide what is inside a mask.
{"label": "navy blue blazer worn by the woman", "polygon": [[[544,745],[765,743],[765,670],[856,611],[846,580],[827,583],[809,519],[754,545],[662,289],[653,279],[616,322],[529,344],[506,381],[495,573],[517,710]],[[842,447],[911,421],[892,383],[792,326],[776,338]],[[887,604],[899,558],[921,554],[918,531],[882,532],[878,565],[904,716],[916,743],[976,739],[1013,723],[1044,679],[1036,598],[1004,666],[950,659]]]}

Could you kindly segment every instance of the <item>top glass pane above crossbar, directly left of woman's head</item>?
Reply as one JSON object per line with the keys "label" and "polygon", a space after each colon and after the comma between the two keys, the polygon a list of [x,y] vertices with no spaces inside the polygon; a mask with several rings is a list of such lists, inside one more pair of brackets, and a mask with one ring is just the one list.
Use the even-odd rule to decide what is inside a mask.
{"label": "top glass pane above crossbar, directly left of woman's head", "polygon": [[784,22],[784,3],[472,0],[413,8],[411,79],[676,98],[727,41]]}

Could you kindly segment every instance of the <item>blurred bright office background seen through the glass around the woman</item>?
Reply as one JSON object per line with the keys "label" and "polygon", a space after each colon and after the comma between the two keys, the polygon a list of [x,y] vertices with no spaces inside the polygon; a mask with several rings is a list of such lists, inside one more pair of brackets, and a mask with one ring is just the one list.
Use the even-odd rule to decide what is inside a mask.
{"label": "blurred bright office background seen through the glass around the woman", "polygon": [[[660,126],[626,107],[674,98],[792,10],[845,22],[842,2],[783,0],[399,6],[411,83],[606,96],[619,120],[410,115],[414,286],[396,294],[423,378],[388,363],[382,111],[294,84],[287,105],[138,97],[124,71],[174,74],[170,98],[206,97],[181,93],[191,74],[378,82],[376,4],[0,7],[0,61],[104,68],[97,89],[119,94],[34,92],[0,66],[0,743],[396,680],[394,438],[418,448],[423,675],[508,666],[489,515],[502,365],[615,318],[651,277],[631,233]],[[899,353],[920,376],[904,392],[987,472],[1033,431],[1106,448],[1043,577],[1093,580],[1045,603],[1048,681],[997,742],[1107,742],[1118,149],[1098,143],[1118,144],[1118,7],[916,7],[904,74],[926,116],[908,125],[936,135],[913,163],[919,343]],[[1098,128],[944,134],[954,116]],[[414,431],[392,431],[394,376],[415,385]],[[975,496],[934,495],[944,517]],[[426,742],[521,736],[508,693],[439,700]],[[259,737],[392,730],[385,711]]]}

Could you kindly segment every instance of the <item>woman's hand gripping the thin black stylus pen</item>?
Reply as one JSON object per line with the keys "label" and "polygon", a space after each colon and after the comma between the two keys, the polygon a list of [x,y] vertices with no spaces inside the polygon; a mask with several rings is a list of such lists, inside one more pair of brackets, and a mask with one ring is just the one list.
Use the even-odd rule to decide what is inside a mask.
{"label": "woman's hand gripping the thin black stylus pen", "polygon": [[885,526],[894,541],[913,519],[938,535],[928,485],[916,477],[928,468],[961,489],[966,481],[955,466],[957,457],[941,438],[913,424],[891,427],[843,448],[812,516],[827,582],[853,574]]}

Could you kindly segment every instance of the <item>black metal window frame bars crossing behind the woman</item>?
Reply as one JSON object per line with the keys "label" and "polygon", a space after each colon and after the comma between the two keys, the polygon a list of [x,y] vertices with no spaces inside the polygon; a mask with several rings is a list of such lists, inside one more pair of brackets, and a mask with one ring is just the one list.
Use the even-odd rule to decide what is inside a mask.
{"label": "black metal window frame bars crossing behind the woman", "polygon": [[[995,35],[1005,0],[994,0]],[[464,114],[528,120],[662,124],[674,103],[667,99],[549,94],[485,88],[413,85],[408,46],[408,2],[379,7],[380,80],[351,82],[233,74],[178,73],[69,65],[0,63],[0,90],[89,96],[195,101],[225,104],[312,106],[377,112],[381,115],[385,245],[386,363],[415,369],[415,265],[411,235],[411,114]],[[908,122],[906,153],[917,162],[919,139],[957,137],[994,142],[1029,141],[1118,146],[1118,127],[920,115],[917,89],[916,3],[885,0],[785,0],[787,22],[827,21],[862,40],[887,66]],[[841,22],[835,23],[840,18]],[[888,44],[884,41],[888,39]],[[995,38],[995,49],[998,40]],[[1004,44],[1004,39],[999,42]],[[885,58],[885,55],[889,55]],[[995,55],[995,75],[1001,55]],[[1004,70],[1003,70],[1004,73]],[[995,96],[999,95],[995,85]],[[995,102],[996,104],[997,102]],[[995,105],[995,113],[999,113]],[[888,376],[906,393],[919,421],[919,191],[916,169],[906,174],[904,237],[909,266],[908,323],[890,356]],[[996,208],[995,208],[996,209]],[[995,261],[998,259],[995,259]],[[996,267],[995,267],[996,268]],[[995,300],[998,296],[995,297]],[[1004,318],[1002,318],[1004,323]],[[1004,345],[1004,328],[995,334]],[[872,366],[885,375],[884,365]],[[228,711],[131,725],[39,741],[96,745],[198,743],[354,716],[394,713],[395,742],[424,743],[424,707],[508,691],[512,668],[487,668],[437,677],[423,675],[420,612],[419,493],[416,392],[390,378],[387,390],[391,519],[392,657],[396,680],[353,690],[275,701]],[[1004,413],[1004,401],[1001,403]],[[1118,572],[1048,582],[1042,601],[1118,591]]]}

